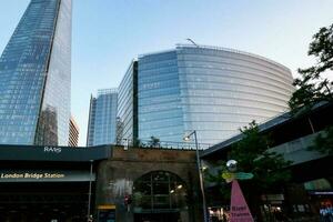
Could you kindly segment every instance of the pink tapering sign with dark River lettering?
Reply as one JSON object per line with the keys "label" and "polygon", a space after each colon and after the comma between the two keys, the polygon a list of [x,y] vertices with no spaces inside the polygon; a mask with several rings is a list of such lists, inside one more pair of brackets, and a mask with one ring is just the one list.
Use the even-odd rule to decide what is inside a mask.
{"label": "pink tapering sign with dark River lettering", "polygon": [[253,222],[253,218],[236,180],[232,181],[230,221]]}

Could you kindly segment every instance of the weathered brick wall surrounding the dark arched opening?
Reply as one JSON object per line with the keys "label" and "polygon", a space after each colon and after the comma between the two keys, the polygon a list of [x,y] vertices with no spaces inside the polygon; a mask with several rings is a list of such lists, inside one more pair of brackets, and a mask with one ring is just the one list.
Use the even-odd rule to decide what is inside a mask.
{"label": "weathered brick wall surrounding the dark arched opening", "polygon": [[168,171],[179,175],[186,184],[188,195],[192,200],[188,212],[181,212],[182,221],[195,220],[201,215],[200,186],[195,151],[139,149],[112,149],[112,158],[100,162],[95,186],[95,206],[117,205],[117,221],[133,221],[132,209],[128,212],[124,195],[132,194],[135,180],[152,171]]}

